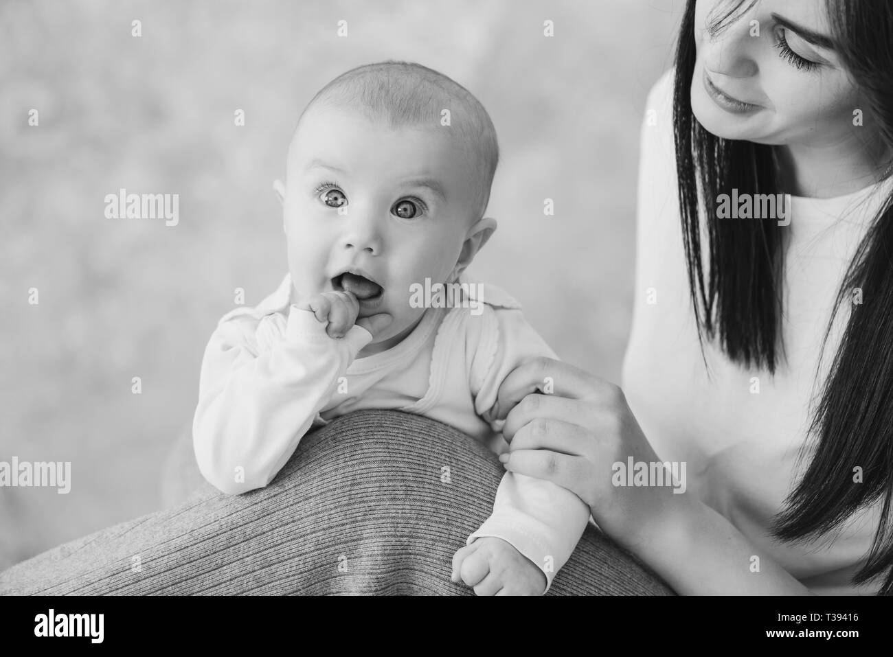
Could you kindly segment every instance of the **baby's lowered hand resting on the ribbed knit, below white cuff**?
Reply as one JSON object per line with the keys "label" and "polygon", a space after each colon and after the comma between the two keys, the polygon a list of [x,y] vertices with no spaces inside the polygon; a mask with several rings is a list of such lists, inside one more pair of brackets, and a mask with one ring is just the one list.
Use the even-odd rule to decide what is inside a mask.
{"label": "baby's lowered hand resting on the ribbed knit, below white cuff", "polygon": [[477,595],[543,595],[546,574],[495,536],[482,536],[453,555],[453,581],[463,581]]}

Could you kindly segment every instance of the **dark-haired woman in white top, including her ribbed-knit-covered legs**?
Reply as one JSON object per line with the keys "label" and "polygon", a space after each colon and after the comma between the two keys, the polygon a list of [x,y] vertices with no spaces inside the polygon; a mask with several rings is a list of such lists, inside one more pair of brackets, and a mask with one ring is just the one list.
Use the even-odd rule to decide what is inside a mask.
{"label": "dark-haired woman in white top, including her ribbed-knit-covered legs", "polygon": [[[893,591],[891,45],[887,3],[689,0],[642,130],[623,390],[539,361],[500,392],[505,467],[580,495],[677,593]],[[615,486],[630,459],[684,481]],[[469,592],[449,557],[501,470],[432,420],[355,413],[271,486],[205,487],[0,592]],[[666,592],[590,528],[550,594]]]}

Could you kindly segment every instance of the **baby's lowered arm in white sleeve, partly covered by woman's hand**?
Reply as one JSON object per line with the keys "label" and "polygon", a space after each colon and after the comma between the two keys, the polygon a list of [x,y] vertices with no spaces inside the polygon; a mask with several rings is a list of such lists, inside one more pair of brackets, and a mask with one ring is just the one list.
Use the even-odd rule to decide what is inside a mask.
{"label": "baby's lowered arm in white sleeve, partly covered by woman's hand", "polygon": [[[494,430],[501,431],[504,421],[493,420],[493,411],[499,386],[505,377],[522,362],[538,356],[555,358],[555,353],[524,320],[519,310],[499,309],[495,315],[498,329],[497,351],[486,375],[477,382],[480,387],[475,395],[475,408],[481,417],[490,422]],[[486,330],[484,328],[485,332]],[[481,341],[481,344],[487,342],[484,337]],[[544,381],[544,388],[547,389],[547,381]],[[454,560],[456,574],[462,571],[461,561],[466,558],[471,558],[475,563],[465,564],[462,574],[471,572],[472,580],[478,579],[483,570],[487,570],[481,567],[484,561],[488,561],[491,575],[495,574],[495,570],[500,570],[500,561],[508,559],[505,546],[488,545],[492,544],[490,540],[484,544],[488,548],[486,553],[480,554],[480,549],[475,548],[483,537],[499,538],[511,544],[541,570],[535,580],[538,582],[538,590],[534,592],[545,593],[552,586],[555,573],[573,553],[588,520],[587,504],[566,488],[544,479],[506,472],[497,489],[492,515],[469,536],[467,546],[457,553]],[[493,568],[494,564],[497,565],[496,569]],[[530,592],[524,590],[525,586],[515,586],[512,582],[512,578],[530,582],[530,573],[515,570],[515,574],[509,571],[497,579],[503,580],[507,592]],[[466,584],[480,584],[482,592],[497,593],[498,588],[494,590],[494,586],[498,586],[499,582],[494,583],[487,578],[484,575],[473,584],[466,580]]]}

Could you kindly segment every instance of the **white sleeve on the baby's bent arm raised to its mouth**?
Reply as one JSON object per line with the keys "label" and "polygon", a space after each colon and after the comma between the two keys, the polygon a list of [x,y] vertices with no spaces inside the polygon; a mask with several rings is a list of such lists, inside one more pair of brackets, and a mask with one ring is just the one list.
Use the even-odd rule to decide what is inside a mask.
{"label": "white sleeve on the baby's bent arm raised to its mouth", "polygon": [[192,425],[204,478],[231,495],[269,484],[371,339],[358,326],[329,337],[295,306],[288,319],[224,317],[204,350]]}

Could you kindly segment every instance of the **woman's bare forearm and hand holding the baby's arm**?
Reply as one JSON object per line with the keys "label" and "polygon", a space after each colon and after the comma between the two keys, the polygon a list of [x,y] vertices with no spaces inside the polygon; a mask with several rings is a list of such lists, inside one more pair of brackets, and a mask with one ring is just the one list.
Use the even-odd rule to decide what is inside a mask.
{"label": "woman's bare forearm and hand holding the baby's arm", "polygon": [[[547,380],[554,393],[540,394]],[[626,463],[630,456],[635,462],[660,461],[619,387],[543,358],[505,379],[497,406],[511,443],[511,452],[501,457],[505,468],[579,495],[599,527],[677,593],[809,593],[696,496],[677,495],[665,486],[613,485],[614,463]]]}

